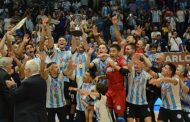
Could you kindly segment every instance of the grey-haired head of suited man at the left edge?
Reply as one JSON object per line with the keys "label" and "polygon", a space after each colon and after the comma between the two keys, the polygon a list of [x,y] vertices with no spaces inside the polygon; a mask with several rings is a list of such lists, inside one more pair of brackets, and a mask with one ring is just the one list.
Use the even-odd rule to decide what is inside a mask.
{"label": "grey-haired head of suited man at the left edge", "polygon": [[10,57],[1,57],[0,58],[0,68],[5,69],[8,73],[13,73],[13,59]]}

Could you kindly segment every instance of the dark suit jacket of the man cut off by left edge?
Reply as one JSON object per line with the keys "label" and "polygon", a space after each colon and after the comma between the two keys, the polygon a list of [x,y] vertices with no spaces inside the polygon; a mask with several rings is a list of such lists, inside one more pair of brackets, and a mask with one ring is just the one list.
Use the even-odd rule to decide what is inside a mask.
{"label": "dark suit jacket of the man cut off by left edge", "polygon": [[13,104],[10,102],[9,89],[5,84],[5,81],[10,79],[11,76],[0,68],[0,122],[13,121]]}

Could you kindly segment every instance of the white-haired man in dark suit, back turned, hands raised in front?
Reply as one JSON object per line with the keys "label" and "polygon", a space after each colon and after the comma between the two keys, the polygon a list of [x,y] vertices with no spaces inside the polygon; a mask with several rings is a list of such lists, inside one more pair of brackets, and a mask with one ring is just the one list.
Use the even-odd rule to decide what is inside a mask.
{"label": "white-haired man in dark suit, back turned, hands raised in front", "polygon": [[46,81],[39,74],[39,65],[29,60],[25,65],[26,79],[19,88],[7,80],[11,99],[15,103],[14,122],[46,122]]}

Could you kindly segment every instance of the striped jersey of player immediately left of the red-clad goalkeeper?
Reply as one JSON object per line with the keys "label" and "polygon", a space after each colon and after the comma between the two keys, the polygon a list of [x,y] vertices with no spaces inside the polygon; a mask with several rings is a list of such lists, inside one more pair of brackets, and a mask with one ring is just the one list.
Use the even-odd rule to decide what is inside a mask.
{"label": "striped jersey of player immediately left of the red-clad goalkeeper", "polygon": [[[107,68],[107,65],[108,65],[108,59],[106,59],[105,61],[102,61],[102,60],[100,60],[100,58],[95,58],[92,61],[92,63],[94,63],[94,65],[96,66],[99,76],[100,75],[106,75],[106,68]],[[106,84],[107,80],[102,79],[99,82]]]}

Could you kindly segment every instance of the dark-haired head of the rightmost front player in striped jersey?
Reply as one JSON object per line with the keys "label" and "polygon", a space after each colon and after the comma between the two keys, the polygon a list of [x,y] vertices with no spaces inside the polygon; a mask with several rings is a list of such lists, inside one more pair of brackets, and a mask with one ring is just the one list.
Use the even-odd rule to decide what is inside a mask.
{"label": "dark-haired head of the rightmost front player in striped jersey", "polygon": [[162,68],[162,75],[165,77],[173,77],[175,73],[176,66],[172,63],[168,63]]}

